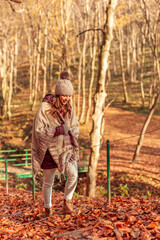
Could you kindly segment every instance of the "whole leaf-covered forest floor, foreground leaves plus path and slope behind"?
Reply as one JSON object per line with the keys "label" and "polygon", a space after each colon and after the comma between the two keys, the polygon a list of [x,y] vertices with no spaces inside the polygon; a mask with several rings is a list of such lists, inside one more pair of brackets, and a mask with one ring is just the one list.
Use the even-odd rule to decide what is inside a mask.
{"label": "whole leaf-covered forest floor, foreground leaves plus path and slope behind", "polygon": [[[15,107],[11,120],[0,121],[1,149],[30,148],[33,116],[33,112]],[[85,196],[86,174],[80,174],[74,216],[62,214],[64,186],[55,187],[53,215],[45,219],[41,176],[37,180],[35,201],[29,179],[11,179],[8,194],[5,181],[1,180],[0,239],[160,239],[160,117],[152,117],[140,154],[132,163],[145,118],[143,114],[107,109],[96,197]],[[90,130],[91,122],[81,126],[79,135],[86,163]],[[107,139],[111,156],[111,205],[107,203]]]}

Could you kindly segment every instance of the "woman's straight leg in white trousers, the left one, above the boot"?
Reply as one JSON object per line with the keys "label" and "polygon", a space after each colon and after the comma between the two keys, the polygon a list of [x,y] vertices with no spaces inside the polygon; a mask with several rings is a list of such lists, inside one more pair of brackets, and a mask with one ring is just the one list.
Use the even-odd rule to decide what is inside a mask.
{"label": "woman's straight leg in white trousers, the left one, above the boot", "polygon": [[56,168],[43,169],[43,186],[42,193],[44,199],[44,207],[51,208],[52,206],[52,186],[54,183]]}

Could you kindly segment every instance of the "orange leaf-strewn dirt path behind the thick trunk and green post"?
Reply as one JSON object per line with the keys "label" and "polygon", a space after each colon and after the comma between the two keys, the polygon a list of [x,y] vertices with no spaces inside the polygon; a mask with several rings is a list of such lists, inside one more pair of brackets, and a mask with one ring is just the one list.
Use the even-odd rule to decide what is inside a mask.
{"label": "orange leaf-strewn dirt path behind the thick trunk and green post", "polygon": [[[111,180],[114,184],[117,181],[117,185],[131,181],[137,186],[145,183],[145,186],[142,184],[142,187],[154,187],[160,192],[160,117],[152,117],[137,161],[132,163],[145,118],[145,115],[115,108],[109,108],[105,113],[103,139],[104,143],[107,139],[110,141]],[[86,149],[89,148],[89,129],[87,127],[89,126],[83,126],[83,131],[80,133],[80,139],[83,139],[82,145]],[[87,149],[87,159],[89,159],[89,152],[90,150]],[[104,175],[107,174],[106,158],[106,144],[103,144],[98,170],[103,169]]]}

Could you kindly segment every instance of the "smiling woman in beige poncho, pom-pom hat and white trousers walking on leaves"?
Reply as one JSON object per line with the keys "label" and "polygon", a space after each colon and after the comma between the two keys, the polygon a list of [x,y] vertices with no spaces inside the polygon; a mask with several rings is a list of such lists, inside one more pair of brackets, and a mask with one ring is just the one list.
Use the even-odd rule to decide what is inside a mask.
{"label": "smiling woman in beige poncho, pom-pom hat and white trousers walking on leaves", "polygon": [[73,86],[66,71],[61,72],[55,95],[46,95],[37,110],[32,131],[33,174],[43,169],[42,193],[45,216],[51,214],[52,185],[56,169],[67,175],[64,212],[74,212],[72,197],[77,185],[79,122],[71,106]]}

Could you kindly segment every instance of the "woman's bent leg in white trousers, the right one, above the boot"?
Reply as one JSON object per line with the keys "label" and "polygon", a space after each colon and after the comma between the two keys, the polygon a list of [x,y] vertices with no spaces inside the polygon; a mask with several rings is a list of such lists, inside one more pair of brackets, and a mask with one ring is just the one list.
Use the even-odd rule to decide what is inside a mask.
{"label": "woman's bent leg in white trousers, the right one, above the boot", "polygon": [[65,184],[64,199],[71,200],[77,186],[78,167],[77,162],[68,162],[66,166],[67,181]]}

